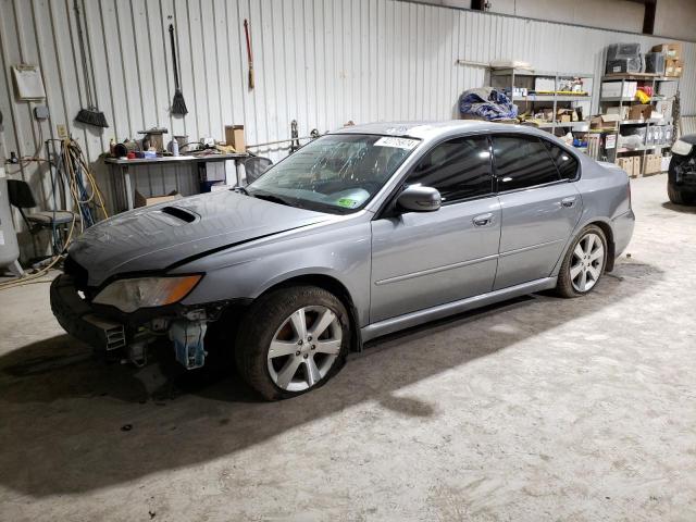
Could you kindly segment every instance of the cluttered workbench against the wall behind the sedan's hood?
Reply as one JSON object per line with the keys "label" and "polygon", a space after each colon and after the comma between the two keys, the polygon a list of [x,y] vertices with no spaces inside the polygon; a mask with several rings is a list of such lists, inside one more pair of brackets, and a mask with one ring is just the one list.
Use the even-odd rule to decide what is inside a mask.
{"label": "cluttered workbench against the wall behind the sedan's hood", "polygon": [[[249,154],[246,153],[234,153],[204,156],[164,156],[161,158],[137,158],[133,160],[127,160],[124,158],[105,158],[104,163],[109,165],[111,171],[111,182],[116,208],[119,210],[133,210],[135,201],[135,190],[137,187],[137,171],[140,169],[151,169],[153,166],[161,167],[158,170],[158,175],[160,175],[162,178],[174,175],[175,183],[173,185],[173,188],[183,196],[189,196],[190,194],[197,194],[199,191],[197,188],[195,188],[197,186],[196,179],[209,179],[207,170],[210,163],[234,161],[235,174],[237,178],[236,183],[237,185],[240,185],[244,176],[241,160],[245,160],[248,157]],[[182,190],[179,187],[178,172],[181,171],[182,166],[188,167],[191,175],[191,183],[188,190]],[[150,179],[148,179],[148,184],[150,186],[150,195],[154,196],[156,194],[152,192],[154,192],[156,190],[152,189],[152,183]],[[160,189],[162,195],[169,191],[165,189],[167,183],[162,179],[163,188]]]}

